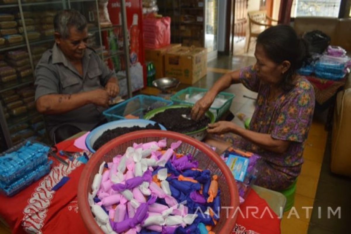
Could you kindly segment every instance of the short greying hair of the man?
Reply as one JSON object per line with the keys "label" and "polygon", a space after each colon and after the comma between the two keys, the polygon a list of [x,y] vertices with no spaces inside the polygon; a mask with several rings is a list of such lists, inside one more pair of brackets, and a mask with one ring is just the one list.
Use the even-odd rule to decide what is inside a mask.
{"label": "short greying hair of the man", "polygon": [[63,39],[69,37],[70,27],[75,27],[78,32],[82,32],[87,27],[85,16],[73,9],[60,11],[55,15],[55,32],[60,33]]}

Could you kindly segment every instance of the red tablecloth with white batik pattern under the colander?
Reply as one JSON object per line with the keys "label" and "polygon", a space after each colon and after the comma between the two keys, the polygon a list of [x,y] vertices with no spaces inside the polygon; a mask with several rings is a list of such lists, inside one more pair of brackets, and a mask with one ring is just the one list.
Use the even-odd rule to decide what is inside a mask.
{"label": "red tablecloth with white batik pattern under the colander", "polygon": [[[57,147],[59,150],[79,151],[73,144],[74,139],[66,140]],[[12,233],[26,233],[26,230],[50,234],[88,233],[77,202],[78,181],[83,168],[84,164],[76,160],[70,162],[68,167],[56,162],[47,176],[15,196],[0,195],[0,216],[10,226]],[[51,192],[50,188],[63,176],[70,179],[60,189]],[[31,213],[34,206],[39,208],[38,213]],[[247,207],[257,207],[258,213],[256,208],[251,212],[252,208]],[[254,190],[250,190],[240,210],[243,215],[239,213],[233,233],[243,233],[242,230],[252,234],[280,233],[280,219]]]}

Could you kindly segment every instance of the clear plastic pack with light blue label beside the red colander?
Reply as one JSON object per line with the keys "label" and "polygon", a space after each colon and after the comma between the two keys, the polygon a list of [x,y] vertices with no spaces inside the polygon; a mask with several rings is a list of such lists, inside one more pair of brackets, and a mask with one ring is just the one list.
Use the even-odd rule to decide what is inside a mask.
{"label": "clear plastic pack with light blue label beside the red colander", "polygon": [[258,176],[259,165],[262,159],[257,154],[232,147],[228,148],[221,157],[237,182],[240,203],[243,203]]}

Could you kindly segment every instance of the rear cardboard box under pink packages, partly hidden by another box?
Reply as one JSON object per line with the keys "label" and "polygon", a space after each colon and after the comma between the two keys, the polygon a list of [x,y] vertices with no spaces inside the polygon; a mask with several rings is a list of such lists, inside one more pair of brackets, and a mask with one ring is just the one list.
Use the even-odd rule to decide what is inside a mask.
{"label": "rear cardboard box under pink packages, partly hidden by another box", "polygon": [[171,44],[158,49],[145,49],[145,61],[154,63],[156,70],[156,79],[165,77],[165,54],[181,44]]}

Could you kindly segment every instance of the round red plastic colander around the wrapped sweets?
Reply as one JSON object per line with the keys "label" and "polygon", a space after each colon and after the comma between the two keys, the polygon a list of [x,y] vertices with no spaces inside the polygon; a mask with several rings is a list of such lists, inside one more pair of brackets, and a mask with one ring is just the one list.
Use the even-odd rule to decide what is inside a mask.
{"label": "round red plastic colander around the wrapped sweets", "polygon": [[88,193],[92,192],[91,184],[101,163],[104,161],[112,162],[114,156],[124,154],[127,147],[132,146],[134,142],[145,143],[161,139],[167,140],[167,147],[170,147],[172,142],[182,141],[177,153],[191,153],[199,161],[200,169],[209,169],[211,175],[218,175],[221,207],[231,208],[221,209],[219,221],[213,231],[217,234],[232,232],[237,219],[237,214],[233,214],[239,206],[238,189],[232,173],[219,155],[204,143],[184,134],[161,130],[143,130],[127,133],[109,141],[93,154],[84,167],[78,186],[78,206],[82,220],[90,233],[103,233],[94,220],[88,203]]}

